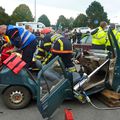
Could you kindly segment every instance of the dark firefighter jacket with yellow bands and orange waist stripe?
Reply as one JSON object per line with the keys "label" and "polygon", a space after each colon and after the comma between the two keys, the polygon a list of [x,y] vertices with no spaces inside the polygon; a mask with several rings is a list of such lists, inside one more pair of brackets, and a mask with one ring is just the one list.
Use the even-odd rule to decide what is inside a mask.
{"label": "dark firefighter jacket with yellow bands and orange waist stripe", "polygon": [[41,45],[38,46],[35,58],[44,58],[50,52],[58,54],[73,53],[72,44],[60,34],[47,34],[42,40]]}

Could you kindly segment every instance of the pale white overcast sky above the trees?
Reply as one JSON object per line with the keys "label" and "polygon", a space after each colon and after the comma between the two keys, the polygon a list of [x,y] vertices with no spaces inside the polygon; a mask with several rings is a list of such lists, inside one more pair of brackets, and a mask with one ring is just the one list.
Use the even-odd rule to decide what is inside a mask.
{"label": "pale white overcast sky above the trees", "polygon": [[[32,15],[35,16],[35,1],[36,18],[45,14],[51,24],[55,24],[60,15],[64,15],[66,18],[76,18],[80,13],[85,14],[86,9],[95,0],[0,0],[0,6],[5,9],[7,14],[11,15],[20,4],[26,4]],[[120,23],[120,0],[96,1],[104,7],[111,22]]]}

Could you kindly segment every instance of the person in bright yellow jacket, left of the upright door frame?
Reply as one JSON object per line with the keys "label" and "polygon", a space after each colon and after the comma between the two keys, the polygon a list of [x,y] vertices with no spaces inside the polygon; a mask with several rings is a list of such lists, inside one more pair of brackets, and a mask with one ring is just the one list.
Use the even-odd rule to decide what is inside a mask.
{"label": "person in bright yellow jacket, left of the upright door frame", "polygon": [[100,22],[100,26],[91,32],[92,35],[92,48],[105,50],[105,44],[107,39],[107,32],[105,31],[107,23],[105,21]]}

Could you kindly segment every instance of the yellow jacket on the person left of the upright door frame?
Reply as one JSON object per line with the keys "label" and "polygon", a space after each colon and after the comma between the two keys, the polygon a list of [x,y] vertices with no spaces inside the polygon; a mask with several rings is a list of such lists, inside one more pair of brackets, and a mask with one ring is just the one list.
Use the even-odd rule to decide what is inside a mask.
{"label": "yellow jacket on the person left of the upright door frame", "polygon": [[101,27],[98,27],[98,31],[92,35],[92,44],[94,45],[105,45],[107,38],[107,32]]}

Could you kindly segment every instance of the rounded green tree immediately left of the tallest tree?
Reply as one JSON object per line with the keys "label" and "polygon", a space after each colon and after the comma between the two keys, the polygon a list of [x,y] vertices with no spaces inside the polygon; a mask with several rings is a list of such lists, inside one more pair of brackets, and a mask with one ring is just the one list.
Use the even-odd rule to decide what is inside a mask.
{"label": "rounded green tree immediately left of the tallest tree", "polygon": [[79,14],[77,18],[74,20],[74,27],[86,27],[87,26],[87,16],[84,14]]}

